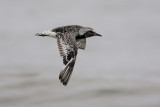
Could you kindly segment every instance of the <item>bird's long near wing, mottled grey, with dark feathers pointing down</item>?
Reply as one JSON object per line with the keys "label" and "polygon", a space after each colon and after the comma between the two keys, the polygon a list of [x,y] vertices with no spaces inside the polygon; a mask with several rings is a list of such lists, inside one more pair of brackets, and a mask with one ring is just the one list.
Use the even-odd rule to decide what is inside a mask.
{"label": "bird's long near wing, mottled grey, with dark feathers pointing down", "polygon": [[57,35],[57,43],[60,55],[63,57],[63,64],[65,65],[60,72],[59,79],[63,85],[67,85],[74,68],[78,48],[72,34],[59,33]]}

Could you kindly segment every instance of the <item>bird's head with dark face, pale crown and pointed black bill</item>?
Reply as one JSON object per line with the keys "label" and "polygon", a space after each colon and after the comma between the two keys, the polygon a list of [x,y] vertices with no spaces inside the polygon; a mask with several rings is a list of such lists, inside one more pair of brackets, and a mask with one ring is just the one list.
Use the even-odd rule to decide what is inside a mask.
{"label": "bird's head with dark face, pale crown and pointed black bill", "polygon": [[101,36],[100,34],[96,33],[94,29],[90,27],[83,27],[82,29],[80,29],[79,34],[84,35],[86,38],[92,36]]}

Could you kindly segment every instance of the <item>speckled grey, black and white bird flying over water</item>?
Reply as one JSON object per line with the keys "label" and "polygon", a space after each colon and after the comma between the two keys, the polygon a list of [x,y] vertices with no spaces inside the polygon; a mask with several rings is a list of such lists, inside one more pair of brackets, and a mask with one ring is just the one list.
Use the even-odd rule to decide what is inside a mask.
{"label": "speckled grey, black and white bird flying over water", "polygon": [[101,36],[90,27],[79,25],[69,25],[57,27],[37,33],[36,36],[48,36],[57,39],[60,55],[63,57],[64,68],[59,74],[59,79],[63,85],[67,85],[72,74],[76,61],[77,50],[85,49],[86,38]]}

